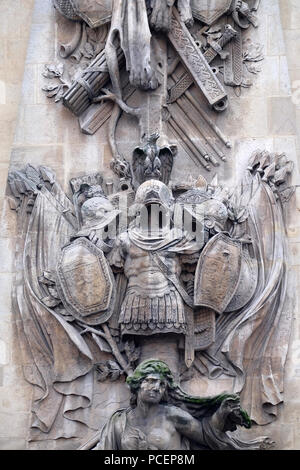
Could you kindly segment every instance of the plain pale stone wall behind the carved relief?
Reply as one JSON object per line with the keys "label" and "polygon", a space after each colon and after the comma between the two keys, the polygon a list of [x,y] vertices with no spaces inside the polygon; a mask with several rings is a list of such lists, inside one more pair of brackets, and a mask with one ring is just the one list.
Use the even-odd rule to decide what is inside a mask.
{"label": "plain pale stone wall behind the carved relief", "polygon": [[[12,5],[14,3],[14,5]],[[22,9],[20,5],[22,3]],[[1,1],[3,12],[0,24],[0,41],[5,44],[3,70],[0,66],[0,121],[1,121],[1,228],[0,233],[0,448],[2,449],[61,449],[76,448],[81,442],[76,439],[59,439],[27,442],[31,419],[32,389],[24,381],[16,327],[11,314],[10,291],[15,272],[14,246],[17,229],[15,214],[9,210],[4,198],[8,163],[10,169],[21,169],[26,163],[51,167],[64,190],[70,194],[68,182],[71,178],[100,171],[111,177],[109,168],[111,151],[107,142],[106,128],[95,135],[80,132],[78,122],[66,108],[57,105],[41,90],[45,79],[44,66],[58,58],[57,25],[61,21],[49,0],[36,0],[29,25],[33,2]],[[2,5],[3,4],[3,5]],[[23,5],[26,4],[26,8]],[[27,16],[26,16],[27,15]],[[11,25],[14,34],[11,35]],[[16,27],[16,24],[19,25]],[[16,122],[13,144],[14,113],[20,90],[26,33],[30,38],[25,61],[19,117]],[[249,38],[251,33],[246,32]],[[55,40],[54,40],[55,38]],[[293,0],[262,0],[260,27],[256,30],[255,42],[264,46],[265,60],[262,72],[253,79],[253,86],[242,90],[236,99],[233,89],[228,89],[229,109],[218,115],[216,124],[233,143],[228,151],[227,162],[216,171],[205,174],[211,180],[215,173],[228,186],[234,184],[247,166],[249,155],[257,148],[271,152],[284,151],[295,163],[292,184],[299,184],[300,130],[300,68],[298,64],[300,39],[300,8]],[[2,60],[2,59],[1,59]],[[298,91],[298,93],[297,93]],[[232,99],[231,99],[232,98]],[[199,96],[199,99],[200,96]],[[129,100],[137,105],[137,98]],[[230,115],[230,117],[228,117]],[[122,117],[117,139],[125,154],[139,144],[139,135],[134,117]],[[133,145],[133,142],[135,143]],[[11,153],[10,162],[8,155]],[[214,170],[214,169],[213,169]],[[184,146],[179,145],[172,180],[182,181],[194,174],[196,166],[188,157]],[[197,170],[198,171],[198,170]],[[268,435],[278,449],[300,449],[300,191],[292,199],[287,214],[288,237],[291,252],[289,293],[287,308],[293,316],[292,335],[285,368],[284,404],[277,420],[261,428],[254,426],[247,436]],[[294,296],[296,294],[296,296]],[[296,299],[294,300],[294,297]],[[188,390],[197,395],[215,395],[224,390],[231,391],[232,380],[220,377],[218,381],[203,378],[190,381]],[[108,390],[103,390],[107,393]],[[119,395],[118,395],[119,393]],[[99,416],[103,422],[122,402],[122,390],[115,397],[107,398],[105,412]],[[124,400],[126,400],[124,398]],[[240,432],[246,436],[246,431]]]}

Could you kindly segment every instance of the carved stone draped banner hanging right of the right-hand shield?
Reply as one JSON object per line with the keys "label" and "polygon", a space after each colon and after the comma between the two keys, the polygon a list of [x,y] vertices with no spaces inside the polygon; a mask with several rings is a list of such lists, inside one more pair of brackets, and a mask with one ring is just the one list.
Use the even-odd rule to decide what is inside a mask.
{"label": "carved stone draped banner hanging right of the right-hand shield", "polygon": [[[262,161],[263,160],[263,161]],[[258,170],[258,171],[257,171]],[[235,377],[234,392],[257,424],[273,421],[283,400],[283,373],[291,331],[287,241],[282,202],[291,171],[284,156],[257,154],[237,190],[247,208],[242,222],[253,241],[258,282],[252,299],[216,322],[216,342],[198,355],[207,374]]]}

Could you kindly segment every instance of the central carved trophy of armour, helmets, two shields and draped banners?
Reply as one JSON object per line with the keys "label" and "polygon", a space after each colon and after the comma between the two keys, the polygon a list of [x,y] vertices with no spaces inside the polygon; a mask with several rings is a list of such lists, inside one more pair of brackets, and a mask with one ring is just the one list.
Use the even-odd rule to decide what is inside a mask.
{"label": "central carved trophy of armour, helmets, two shields and draped banners", "polygon": [[[10,174],[20,233],[14,308],[25,376],[39,392],[33,429],[51,433],[60,409],[67,431],[60,424],[57,437],[68,435],[72,420],[89,425],[94,369],[102,381],[130,376],[152,353],[153,338],[168,344],[177,378],[184,363],[211,377],[234,376],[251,419],[270,422],[282,400],[291,320],[283,308],[282,214],[291,170],[285,155],[256,152],[231,195],[207,185],[175,199],[164,183],[148,180],[136,191],[128,229],[115,239],[103,235],[118,211],[99,175],[83,179],[72,203],[45,167]],[[179,227],[183,203],[202,227],[200,238]],[[142,209],[149,216],[157,206],[164,210],[158,225],[151,229],[151,213],[150,228],[139,225]],[[251,348],[258,338],[260,348]],[[248,347],[253,357],[244,362]],[[113,360],[98,362],[103,353]]]}

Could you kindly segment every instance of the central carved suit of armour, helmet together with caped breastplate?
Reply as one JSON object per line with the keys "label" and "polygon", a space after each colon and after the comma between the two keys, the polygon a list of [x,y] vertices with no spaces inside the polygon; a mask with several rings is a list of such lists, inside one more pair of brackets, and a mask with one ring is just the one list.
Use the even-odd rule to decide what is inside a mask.
{"label": "central carved suit of armour, helmet together with caped breastplate", "polygon": [[[154,180],[142,184],[136,206],[158,202],[170,208],[169,189]],[[124,270],[128,280],[119,315],[122,335],[186,332],[179,254],[194,253],[199,248],[186,233],[169,227],[148,232],[134,225],[117,238],[108,258],[112,266]]]}

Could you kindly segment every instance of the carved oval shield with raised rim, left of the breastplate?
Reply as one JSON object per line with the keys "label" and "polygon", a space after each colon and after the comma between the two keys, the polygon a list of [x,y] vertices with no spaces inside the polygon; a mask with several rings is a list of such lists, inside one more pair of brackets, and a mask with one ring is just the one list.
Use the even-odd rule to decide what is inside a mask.
{"label": "carved oval shield with raised rim, left of the breastplate", "polygon": [[63,248],[57,288],[65,308],[88,325],[106,322],[113,312],[115,281],[103,254],[86,238]]}

